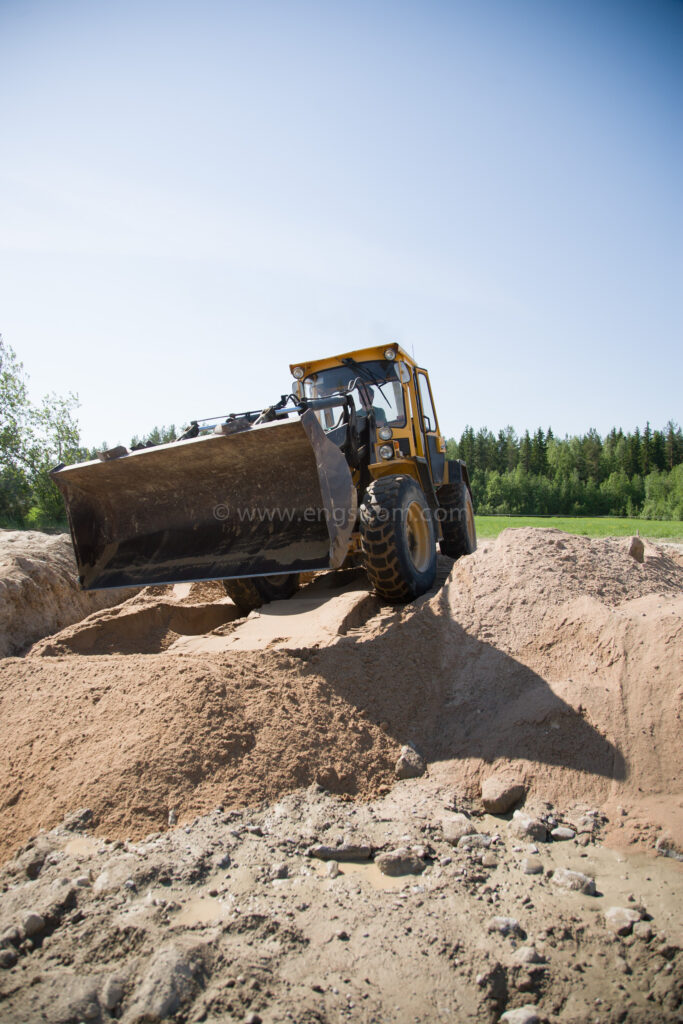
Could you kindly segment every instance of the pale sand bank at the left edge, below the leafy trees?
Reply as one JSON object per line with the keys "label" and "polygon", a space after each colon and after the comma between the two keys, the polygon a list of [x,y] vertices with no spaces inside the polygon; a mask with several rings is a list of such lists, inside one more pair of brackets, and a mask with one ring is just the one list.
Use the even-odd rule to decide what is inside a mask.
{"label": "pale sand bank at the left edge, below the leafy trees", "polygon": [[79,590],[66,534],[0,531],[0,657],[18,654],[84,615],[118,604],[132,591]]}

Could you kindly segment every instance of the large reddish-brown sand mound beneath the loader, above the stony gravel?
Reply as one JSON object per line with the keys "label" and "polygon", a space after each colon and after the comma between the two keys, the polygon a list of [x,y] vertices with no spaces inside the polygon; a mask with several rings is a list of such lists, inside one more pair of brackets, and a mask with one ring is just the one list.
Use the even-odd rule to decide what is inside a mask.
{"label": "large reddish-brown sand mound beneath the loader, above the stony gravel", "polygon": [[[305,643],[285,634],[290,650],[163,650],[223,615],[211,637],[243,629],[213,590],[204,609],[173,588],[93,615],[36,648],[53,656],[0,664],[4,851],[84,805],[100,830],[139,836],[171,807],[183,820],[313,780],[369,796],[392,781],[404,742],[454,793],[512,771],[531,797],[563,803],[660,798],[671,830],[683,569],[651,546],[642,563],[628,552],[628,541],[507,530],[408,608],[378,610],[358,591],[365,611],[349,620],[333,592],[325,630],[310,615]],[[337,601],[353,626],[334,632]],[[256,640],[258,621],[246,621]],[[92,654],[113,623],[117,650],[150,629],[161,652]]]}

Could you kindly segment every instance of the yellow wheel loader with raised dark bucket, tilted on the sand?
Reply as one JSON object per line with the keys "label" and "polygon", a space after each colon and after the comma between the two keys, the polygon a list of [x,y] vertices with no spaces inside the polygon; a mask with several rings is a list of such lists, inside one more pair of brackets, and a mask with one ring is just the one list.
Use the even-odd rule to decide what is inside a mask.
{"label": "yellow wheel loader with raised dark bucket, tilted on the sand", "polygon": [[302,573],[362,565],[401,602],[432,586],[437,542],[475,550],[467,467],[446,458],[426,370],[393,344],[290,371],[266,409],[52,471],[85,590],[222,580],[248,612]]}

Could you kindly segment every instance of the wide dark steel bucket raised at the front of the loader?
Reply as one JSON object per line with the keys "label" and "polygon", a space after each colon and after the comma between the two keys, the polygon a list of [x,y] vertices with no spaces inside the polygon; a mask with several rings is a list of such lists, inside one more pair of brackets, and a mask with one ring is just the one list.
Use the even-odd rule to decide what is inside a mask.
{"label": "wide dark steel bucket raised at the front of the loader", "polygon": [[53,471],[85,590],[337,568],[344,456],[314,414]]}

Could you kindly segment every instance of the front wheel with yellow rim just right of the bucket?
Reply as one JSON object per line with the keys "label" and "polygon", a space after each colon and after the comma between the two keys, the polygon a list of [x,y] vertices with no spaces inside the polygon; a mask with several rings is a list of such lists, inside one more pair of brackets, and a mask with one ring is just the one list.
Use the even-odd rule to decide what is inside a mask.
{"label": "front wheel with yellow rim just right of the bucket", "polygon": [[370,582],[387,601],[412,601],[436,575],[432,511],[412,476],[373,480],[360,505],[360,549]]}

